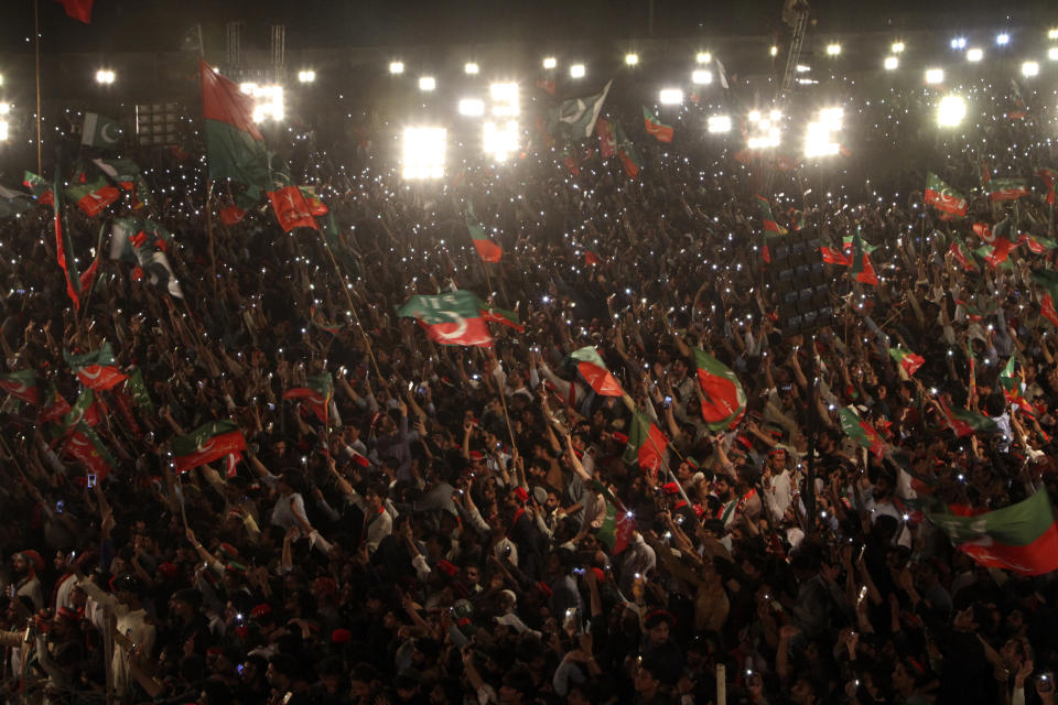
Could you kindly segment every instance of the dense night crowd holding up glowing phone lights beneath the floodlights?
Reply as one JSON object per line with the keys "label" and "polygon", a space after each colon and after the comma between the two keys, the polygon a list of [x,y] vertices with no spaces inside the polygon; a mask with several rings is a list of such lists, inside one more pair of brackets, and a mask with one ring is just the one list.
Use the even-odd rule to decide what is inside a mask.
{"label": "dense night crowd holding up glowing phone lights beneath the floodlights", "polygon": [[[857,123],[898,131],[916,100]],[[1027,175],[1058,163],[1047,129],[1001,118],[973,135],[997,154],[990,169]],[[423,187],[366,142],[345,166],[337,148],[295,156],[338,224],[330,242],[282,232],[264,208],[207,227],[206,189],[185,186],[202,165],[154,155],[148,209],[174,235],[183,300],[104,261],[75,311],[50,209],[0,223],[8,371],[73,400],[64,351],[107,340],[153,402],[98,394],[115,466],[94,487],[39,408],[4,403],[3,697],[1052,703],[1052,575],[982,567],[926,517],[1058,491],[1058,347],[1030,278],[1054,253],[1023,245],[1010,267],[969,269],[949,251],[1007,216],[1052,236],[1046,192],[993,206],[961,152],[866,186],[849,170],[779,172],[779,188],[801,186],[773,202],[787,230],[840,250],[859,229],[877,248],[881,282],[828,265],[831,325],[800,334],[765,285],[763,166],[630,133],[635,180],[596,150],[575,175],[541,150]],[[971,196],[967,218],[922,203],[926,169]],[[209,207],[229,198],[218,187]],[[468,198],[499,264],[471,245]],[[83,268],[101,218],[71,213]],[[451,289],[525,329],[441,346],[396,314]],[[925,358],[911,376],[897,344]],[[660,468],[626,462],[630,411],[576,376],[566,358],[583,346],[667,436]],[[745,389],[733,427],[702,420],[695,347]],[[1003,394],[1012,357],[1034,413]],[[283,399],[323,371],[325,423]],[[884,453],[842,432],[850,405]],[[958,437],[946,408],[998,431]],[[238,423],[245,455],[177,474],[172,440],[212,420]]]}

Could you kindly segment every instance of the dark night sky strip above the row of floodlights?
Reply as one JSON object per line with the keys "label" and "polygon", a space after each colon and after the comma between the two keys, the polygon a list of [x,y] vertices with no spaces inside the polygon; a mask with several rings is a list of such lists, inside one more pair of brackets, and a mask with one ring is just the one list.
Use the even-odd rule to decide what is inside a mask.
{"label": "dark night sky strip above the row of floodlights", "polygon": [[[268,26],[285,23],[289,48],[618,40],[647,35],[648,0],[96,0],[93,24],[66,18],[40,0],[42,51],[175,51],[183,33],[203,24],[208,52],[224,47],[226,22],[246,22],[247,50],[266,48]],[[655,0],[655,36],[765,34],[778,23],[781,0],[709,2]],[[812,0],[816,31],[1030,25],[1056,20],[1054,0]],[[866,11],[877,7],[881,11]],[[1049,17],[1048,17],[1049,15]],[[956,20],[956,21],[953,21]],[[0,55],[32,51],[32,0],[2,0]]]}

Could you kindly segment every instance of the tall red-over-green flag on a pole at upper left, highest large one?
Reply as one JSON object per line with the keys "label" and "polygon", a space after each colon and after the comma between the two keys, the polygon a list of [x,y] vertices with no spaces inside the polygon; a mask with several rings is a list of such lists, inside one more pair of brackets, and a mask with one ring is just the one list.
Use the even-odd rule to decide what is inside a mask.
{"label": "tall red-over-green flag on a pole at upper left, highest large one", "polygon": [[273,187],[264,137],[253,123],[253,98],[205,61],[198,62],[209,178]]}

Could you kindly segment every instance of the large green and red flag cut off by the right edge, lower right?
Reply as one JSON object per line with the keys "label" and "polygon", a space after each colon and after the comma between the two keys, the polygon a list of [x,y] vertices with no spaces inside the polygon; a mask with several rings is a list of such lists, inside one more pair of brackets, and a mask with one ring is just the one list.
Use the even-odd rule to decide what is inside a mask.
{"label": "large green and red flag cut off by the right edge, lower right", "polygon": [[980,565],[1021,575],[1058,570],[1058,527],[1047,490],[971,517],[931,512],[927,517]]}

